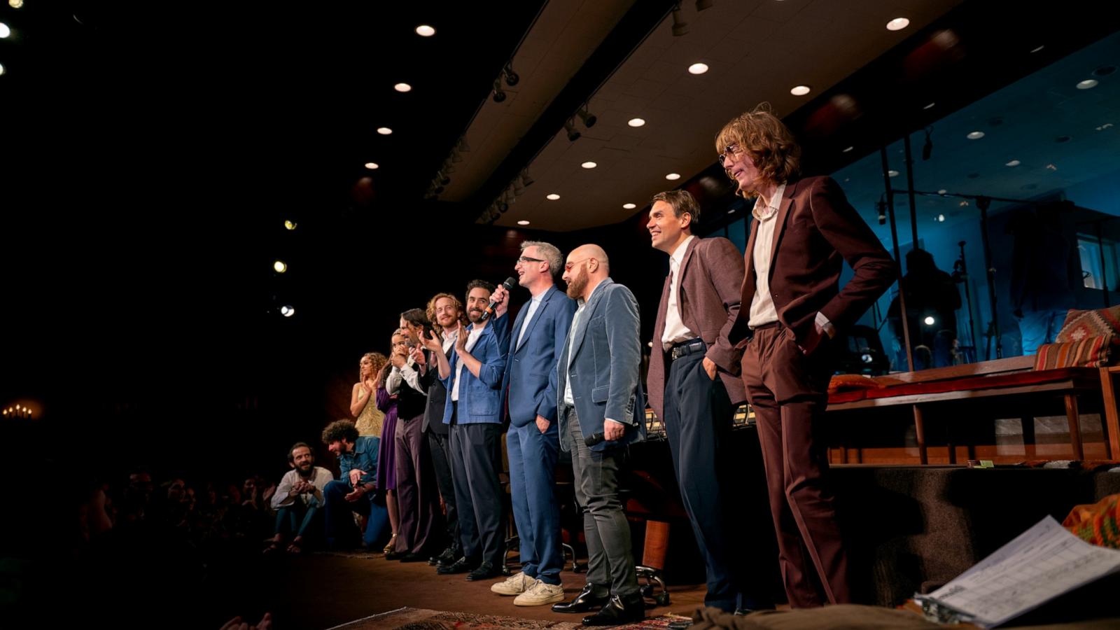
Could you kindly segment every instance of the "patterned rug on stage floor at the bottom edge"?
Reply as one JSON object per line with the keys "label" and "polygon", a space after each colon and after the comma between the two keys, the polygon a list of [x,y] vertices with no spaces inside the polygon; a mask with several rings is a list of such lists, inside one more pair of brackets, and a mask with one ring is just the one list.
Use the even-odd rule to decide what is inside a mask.
{"label": "patterned rug on stage floor at the bottom edge", "polygon": [[[671,621],[688,619],[674,614],[651,617],[642,623],[616,626],[615,628],[665,628]],[[523,630],[573,630],[582,628],[578,621],[553,621],[548,619],[517,619],[496,614],[469,612],[442,612],[417,608],[401,608],[335,626],[329,630],[492,630],[497,628],[521,628]]]}

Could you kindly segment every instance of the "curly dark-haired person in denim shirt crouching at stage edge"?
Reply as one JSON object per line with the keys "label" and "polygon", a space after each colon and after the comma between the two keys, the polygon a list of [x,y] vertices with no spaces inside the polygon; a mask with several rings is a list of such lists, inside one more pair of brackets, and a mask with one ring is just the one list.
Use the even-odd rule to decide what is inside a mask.
{"label": "curly dark-haired person in denim shirt crouching at stage edge", "polygon": [[326,516],[327,546],[354,546],[352,512],[368,517],[363,543],[374,545],[385,530],[388,512],[384,504],[373,501],[376,488],[377,447],[380,438],[358,436],[352,420],[335,420],[323,429],[323,443],[338,457],[339,479],[328,482],[323,490]]}

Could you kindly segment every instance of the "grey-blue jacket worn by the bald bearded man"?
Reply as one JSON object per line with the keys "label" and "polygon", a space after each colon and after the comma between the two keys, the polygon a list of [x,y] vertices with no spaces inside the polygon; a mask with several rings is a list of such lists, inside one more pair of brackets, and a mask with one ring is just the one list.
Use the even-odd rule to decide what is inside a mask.
{"label": "grey-blue jacket worn by the bald bearded man", "polygon": [[[606,418],[628,425],[620,441],[600,442],[592,451],[645,439],[645,395],[638,379],[642,364],[637,300],[623,285],[607,278],[595,287],[579,322],[557,361],[557,406],[563,404],[564,383],[571,378],[571,397],[585,436],[603,433]],[[567,430],[560,418],[560,445]]]}

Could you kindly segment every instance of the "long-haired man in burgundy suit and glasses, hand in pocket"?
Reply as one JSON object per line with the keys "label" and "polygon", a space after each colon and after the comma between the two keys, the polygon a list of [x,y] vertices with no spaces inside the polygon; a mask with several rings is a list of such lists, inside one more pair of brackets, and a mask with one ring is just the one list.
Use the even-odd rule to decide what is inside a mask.
{"label": "long-haired man in burgundy suit and glasses, hand in pocket", "polygon": [[[822,435],[828,345],[890,286],[895,263],[836,182],[799,178],[801,149],[768,108],[728,122],[716,149],[739,194],[757,196],[728,341],[744,349],[785,591],[794,608],[846,603],[848,562]],[[844,260],[855,276],[841,290]]]}

